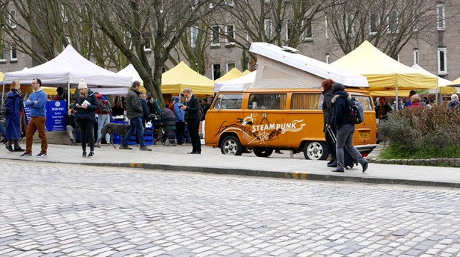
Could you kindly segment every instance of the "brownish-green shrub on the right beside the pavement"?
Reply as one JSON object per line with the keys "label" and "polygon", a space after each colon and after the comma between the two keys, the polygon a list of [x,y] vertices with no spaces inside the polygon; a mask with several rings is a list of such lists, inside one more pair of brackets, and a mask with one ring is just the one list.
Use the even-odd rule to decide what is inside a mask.
{"label": "brownish-green shrub on the right beside the pavement", "polygon": [[394,111],[380,124],[379,133],[392,151],[423,152],[434,154],[433,158],[460,157],[456,151],[460,146],[460,110],[434,106]]}

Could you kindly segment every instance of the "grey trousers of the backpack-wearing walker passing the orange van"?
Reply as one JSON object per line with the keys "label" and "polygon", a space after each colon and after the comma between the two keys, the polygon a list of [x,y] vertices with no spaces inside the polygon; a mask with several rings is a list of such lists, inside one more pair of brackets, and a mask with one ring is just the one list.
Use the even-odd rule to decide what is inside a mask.
{"label": "grey trousers of the backpack-wearing walker passing the orange van", "polygon": [[347,148],[350,156],[357,159],[358,162],[363,165],[366,163],[366,160],[362,158],[361,153],[353,146],[353,134],[354,134],[354,125],[353,124],[344,124],[337,129],[337,142],[335,143],[336,154],[337,154],[337,169],[344,170],[344,147]]}

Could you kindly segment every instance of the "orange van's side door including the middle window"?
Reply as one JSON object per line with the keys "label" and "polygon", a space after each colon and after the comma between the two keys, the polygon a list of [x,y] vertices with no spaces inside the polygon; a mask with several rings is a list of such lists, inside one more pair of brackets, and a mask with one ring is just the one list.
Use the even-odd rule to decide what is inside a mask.
{"label": "orange van's side door including the middle window", "polygon": [[286,93],[247,93],[243,146],[285,148]]}

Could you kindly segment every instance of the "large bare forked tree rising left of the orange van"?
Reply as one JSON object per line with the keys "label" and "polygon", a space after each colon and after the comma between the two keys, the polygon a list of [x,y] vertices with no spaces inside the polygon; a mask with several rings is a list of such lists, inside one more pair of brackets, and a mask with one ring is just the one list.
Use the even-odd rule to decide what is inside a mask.
{"label": "large bare forked tree rising left of the orange van", "polygon": [[[210,8],[210,1],[190,0],[87,0],[85,3],[98,28],[133,64],[145,88],[157,97],[161,96],[165,62],[171,58],[175,46],[192,26],[215,9]],[[153,69],[146,48],[153,54]]]}

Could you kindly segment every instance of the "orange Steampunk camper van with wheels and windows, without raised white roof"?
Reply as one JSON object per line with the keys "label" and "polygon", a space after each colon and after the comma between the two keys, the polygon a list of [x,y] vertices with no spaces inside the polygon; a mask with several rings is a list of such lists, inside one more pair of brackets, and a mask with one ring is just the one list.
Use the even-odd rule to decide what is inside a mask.
{"label": "orange Steampunk camper van with wheels and windows, without raised white roof", "polygon": [[[372,98],[359,89],[347,89],[364,107],[364,122],[356,126],[354,145],[370,151],[376,143]],[[329,155],[323,132],[321,89],[249,89],[221,91],[206,114],[206,146],[223,154],[241,155],[252,149],[268,157],[275,149],[302,151],[305,158]]]}

